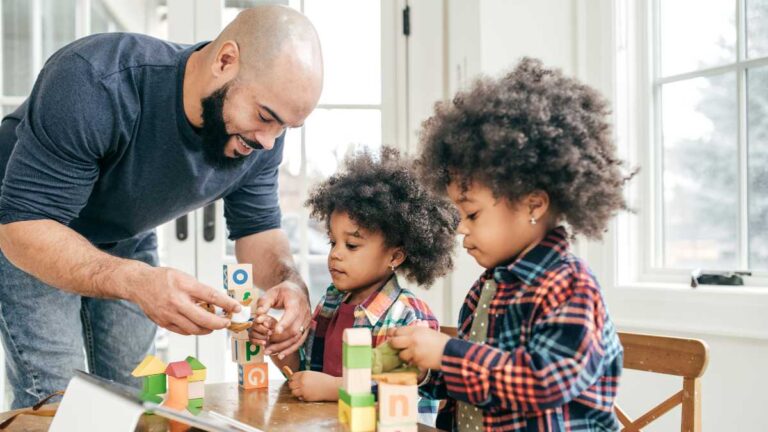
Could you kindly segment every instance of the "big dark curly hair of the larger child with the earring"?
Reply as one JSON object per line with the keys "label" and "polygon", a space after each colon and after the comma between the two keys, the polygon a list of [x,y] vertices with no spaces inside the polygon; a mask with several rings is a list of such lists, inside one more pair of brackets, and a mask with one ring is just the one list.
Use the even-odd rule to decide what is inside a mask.
{"label": "big dark curly hair of the larger child with the earring", "polygon": [[481,78],[452,102],[438,103],[421,132],[418,171],[431,189],[473,180],[518,202],[545,191],[577,233],[600,238],[618,210],[623,162],[607,102],[592,88],[524,58],[501,79]]}

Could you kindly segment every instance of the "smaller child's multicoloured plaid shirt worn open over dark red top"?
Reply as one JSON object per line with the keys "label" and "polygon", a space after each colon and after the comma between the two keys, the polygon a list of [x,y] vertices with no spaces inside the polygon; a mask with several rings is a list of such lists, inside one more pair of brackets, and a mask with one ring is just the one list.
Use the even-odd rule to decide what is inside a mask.
{"label": "smaller child's multicoloured plaid shirt worn open over dark red top", "polygon": [[[419,300],[411,291],[401,288],[397,277],[393,276],[387,283],[374,293],[375,297],[367,307],[358,305],[355,308],[353,327],[371,329],[373,346],[376,347],[387,339],[387,330],[392,327],[409,325],[425,325],[438,330],[440,324],[432,314],[429,306]],[[312,318],[309,335],[304,343],[302,369],[323,371],[323,354],[325,349],[325,334],[331,318],[346,300],[345,294],[331,284],[320,299]],[[437,400],[422,396],[419,399],[419,421],[434,425],[438,407]]]}

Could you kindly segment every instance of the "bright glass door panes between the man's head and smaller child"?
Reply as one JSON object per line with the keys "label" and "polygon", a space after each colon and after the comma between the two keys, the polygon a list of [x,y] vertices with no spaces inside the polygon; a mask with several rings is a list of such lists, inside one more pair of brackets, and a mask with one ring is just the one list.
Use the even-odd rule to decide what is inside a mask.
{"label": "bright glass door panes between the man's head and smaller child", "polygon": [[[230,3],[246,6],[242,1],[225,4]],[[379,0],[303,0],[290,6],[315,25],[325,65],[317,109],[301,130],[287,133],[279,178],[283,229],[314,305],[331,282],[326,265],[330,246],[325,225],[309,219],[304,201],[308,190],[333,174],[347,154],[381,147],[382,5]],[[225,11],[226,22],[237,12]],[[355,18],[339,25],[342,14]],[[234,254],[232,242],[227,253]]]}

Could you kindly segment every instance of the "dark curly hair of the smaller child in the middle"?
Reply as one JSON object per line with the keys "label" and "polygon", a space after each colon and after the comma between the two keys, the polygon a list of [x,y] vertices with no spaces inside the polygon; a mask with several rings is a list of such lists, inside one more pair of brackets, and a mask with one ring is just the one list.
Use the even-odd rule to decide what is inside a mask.
{"label": "dark curly hair of the smaller child in the middle", "polygon": [[453,268],[458,214],[419,183],[412,166],[393,148],[382,148],[378,160],[368,150],[348,157],[339,172],[315,187],[305,205],[326,225],[340,211],[360,227],[380,232],[387,246],[402,248],[406,258],[400,269],[419,285]]}

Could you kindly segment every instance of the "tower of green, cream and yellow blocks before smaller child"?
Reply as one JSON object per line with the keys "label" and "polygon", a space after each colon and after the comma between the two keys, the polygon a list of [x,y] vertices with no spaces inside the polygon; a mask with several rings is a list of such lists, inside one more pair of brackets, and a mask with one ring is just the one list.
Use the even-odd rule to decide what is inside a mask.
{"label": "tower of green, cream and yellow blocks before smaller child", "polygon": [[371,344],[370,329],[344,330],[339,421],[349,425],[351,432],[376,430],[376,402],[371,393]]}

